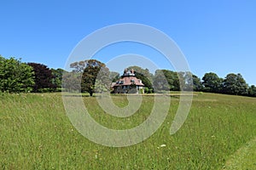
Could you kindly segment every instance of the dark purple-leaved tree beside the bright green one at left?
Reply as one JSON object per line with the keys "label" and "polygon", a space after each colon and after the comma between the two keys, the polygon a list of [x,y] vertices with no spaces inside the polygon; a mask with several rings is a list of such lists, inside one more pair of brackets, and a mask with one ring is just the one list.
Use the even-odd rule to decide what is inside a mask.
{"label": "dark purple-leaved tree beside the bright green one at left", "polygon": [[44,88],[47,88],[49,91],[55,90],[56,86],[52,82],[54,76],[46,65],[38,63],[28,63],[27,65],[32,66],[35,72],[34,92],[42,92]]}

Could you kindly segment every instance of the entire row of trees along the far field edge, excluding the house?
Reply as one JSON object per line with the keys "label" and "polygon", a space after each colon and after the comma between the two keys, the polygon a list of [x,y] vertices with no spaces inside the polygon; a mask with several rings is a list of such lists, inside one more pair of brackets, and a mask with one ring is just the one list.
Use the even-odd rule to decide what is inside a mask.
{"label": "entire row of trees along the far field edge, excluding the house", "polygon": [[[111,82],[120,78],[118,72],[109,71],[104,63],[96,59],[74,62],[70,68],[72,71],[49,69],[47,65],[23,63],[21,59],[5,59],[0,55],[0,92],[60,92],[62,88],[92,95],[109,90]],[[135,76],[142,80],[146,94],[160,93],[161,90],[194,90],[256,97],[256,87],[248,86],[240,73],[230,73],[221,78],[209,72],[200,78],[182,71],[157,70],[152,74],[148,69],[136,65],[128,69],[133,69]]]}

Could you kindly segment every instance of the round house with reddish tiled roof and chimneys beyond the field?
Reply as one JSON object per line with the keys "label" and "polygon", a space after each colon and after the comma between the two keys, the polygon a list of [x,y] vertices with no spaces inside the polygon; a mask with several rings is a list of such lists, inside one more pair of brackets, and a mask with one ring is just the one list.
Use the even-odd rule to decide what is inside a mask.
{"label": "round house with reddish tiled roof and chimneys beyond the field", "polygon": [[112,84],[114,94],[144,94],[144,84],[140,79],[135,77],[133,69],[125,69],[123,76]]}

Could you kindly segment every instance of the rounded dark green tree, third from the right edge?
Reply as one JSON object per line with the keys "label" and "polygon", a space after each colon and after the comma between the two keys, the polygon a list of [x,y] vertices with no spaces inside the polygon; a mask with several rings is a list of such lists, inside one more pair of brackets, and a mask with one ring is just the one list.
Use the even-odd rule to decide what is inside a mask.
{"label": "rounded dark green tree, third from the right edge", "polygon": [[213,72],[206,73],[202,78],[205,91],[212,93],[221,93],[223,88],[223,79]]}

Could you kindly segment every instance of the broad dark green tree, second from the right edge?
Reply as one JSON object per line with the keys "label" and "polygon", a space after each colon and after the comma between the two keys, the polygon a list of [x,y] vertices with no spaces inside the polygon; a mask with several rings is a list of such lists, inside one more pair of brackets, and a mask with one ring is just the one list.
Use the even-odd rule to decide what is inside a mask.
{"label": "broad dark green tree, second from the right edge", "polygon": [[241,74],[228,74],[224,79],[224,94],[246,95],[247,82],[243,79]]}

